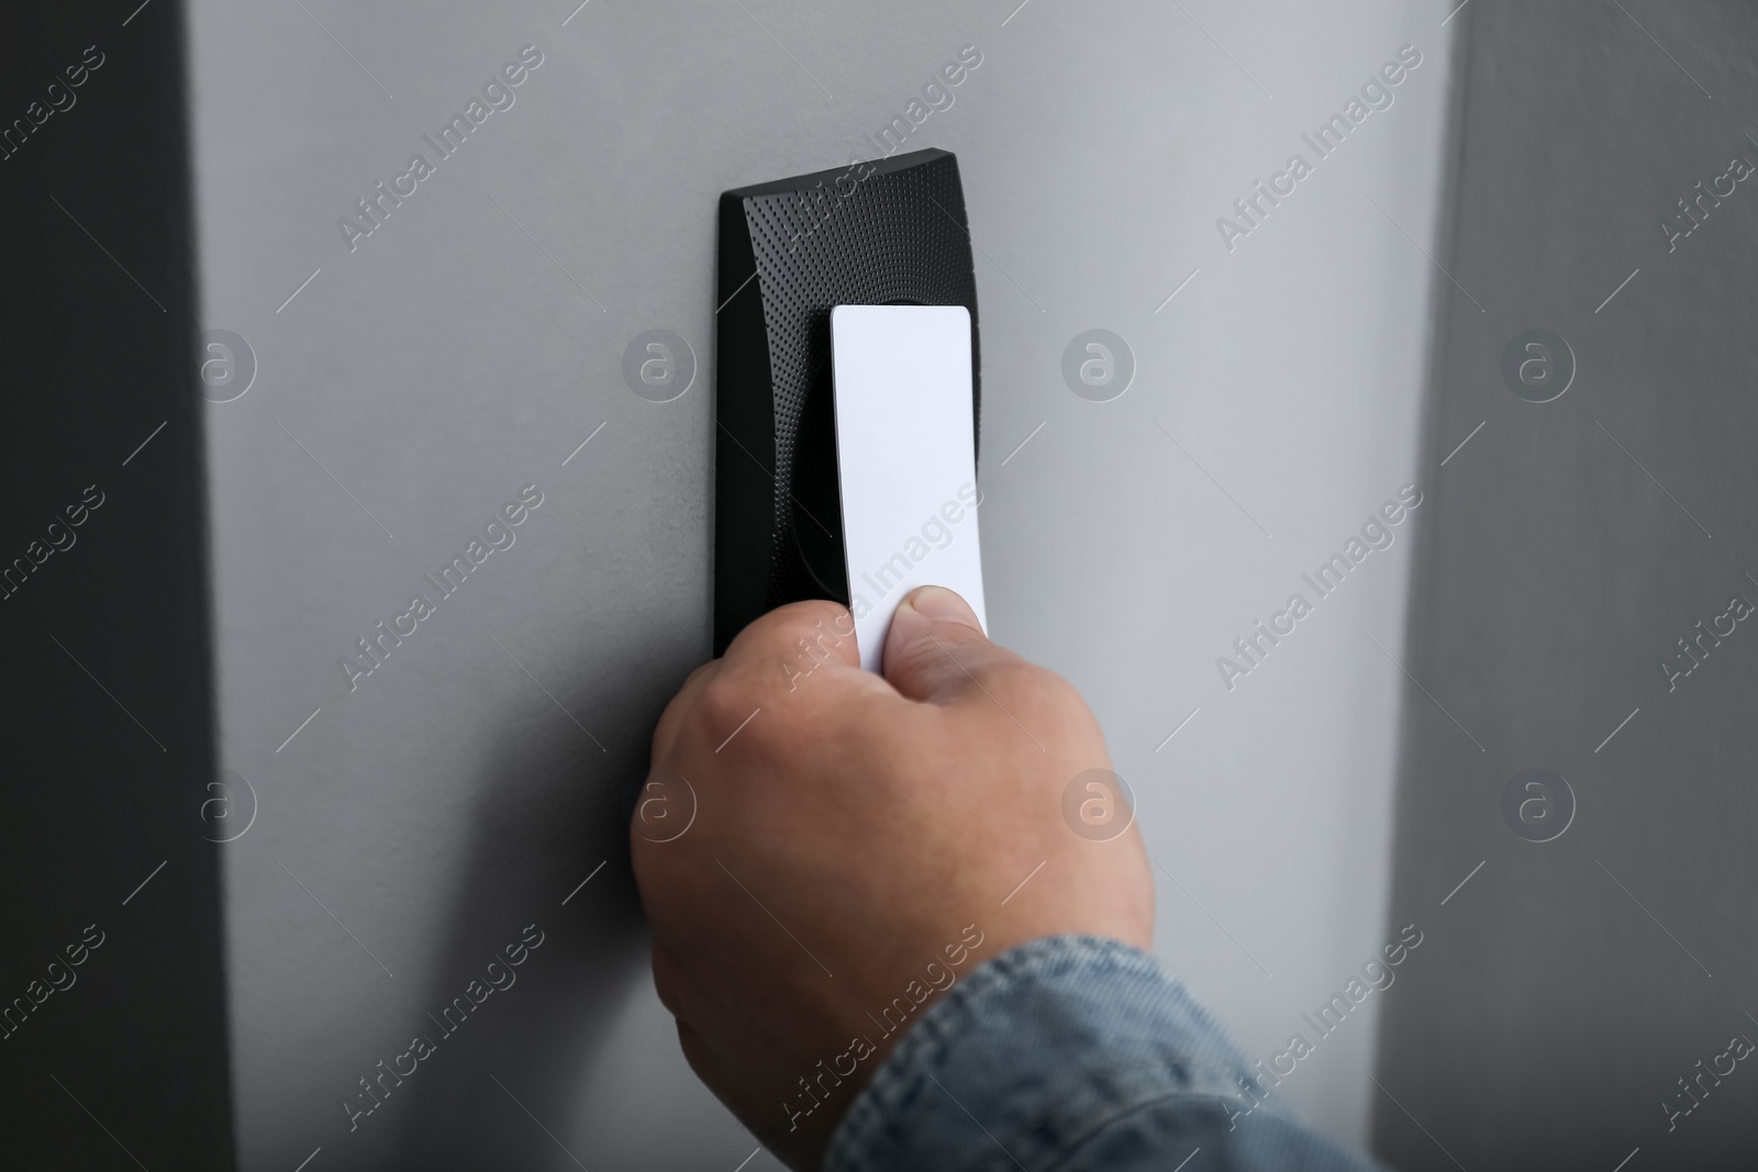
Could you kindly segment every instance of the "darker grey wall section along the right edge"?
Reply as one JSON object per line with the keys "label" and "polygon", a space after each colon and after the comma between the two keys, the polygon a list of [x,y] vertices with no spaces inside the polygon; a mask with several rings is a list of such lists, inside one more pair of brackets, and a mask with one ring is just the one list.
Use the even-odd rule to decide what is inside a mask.
{"label": "darker grey wall section along the right edge", "polygon": [[[1392,884],[1394,922],[1427,940],[1387,1002],[1375,1135],[1408,1168],[1749,1168],[1749,1063],[1691,1114],[1663,1103],[1688,1107],[1677,1081],[1730,1037],[1758,1040],[1758,640],[1725,620],[1672,687],[1658,661],[1689,666],[1677,640],[1758,603],[1758,192],[1705,200],[1670,251],[1658,220],[1689,225],[1675,202],[1698,181],[1758,163],[1758,12],[1464,19],[1443,262],[1480,307],[1438,286],[1408,662],[1433,699],[1408,699]],[[1554,402],[1498,371],[1529,329],[1573,351]],[[1573,791],[1551,842],[1500,810],[1528,768]]]}

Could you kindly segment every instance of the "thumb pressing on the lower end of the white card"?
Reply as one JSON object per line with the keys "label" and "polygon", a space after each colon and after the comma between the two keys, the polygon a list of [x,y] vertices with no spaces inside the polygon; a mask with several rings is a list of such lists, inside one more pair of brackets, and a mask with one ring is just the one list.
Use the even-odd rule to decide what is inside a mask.
{"label": "thumb pressing on the lower end of the white card", "polygon": [[946,587],[904,596],[884,640],[884,678],[909,699],[949,703],[977,692],[997,668],[1020,657],[990,643],[977,615]]}

